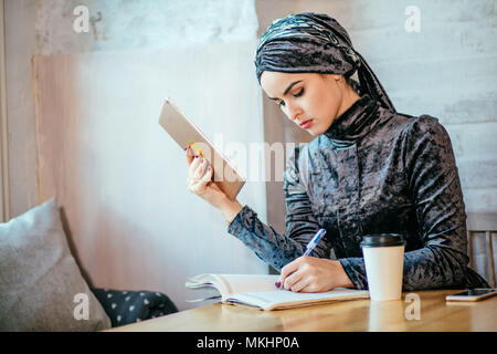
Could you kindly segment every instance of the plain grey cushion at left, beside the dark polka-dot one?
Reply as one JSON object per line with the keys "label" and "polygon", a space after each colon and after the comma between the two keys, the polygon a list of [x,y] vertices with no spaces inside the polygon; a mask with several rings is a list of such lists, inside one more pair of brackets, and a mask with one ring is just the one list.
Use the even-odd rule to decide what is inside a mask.
{"label": "plain grey cushion at left, beside the dark polka-dot one", "polygon": [[0,223],[0,331],[108,327],[71,254],[55,198]]}

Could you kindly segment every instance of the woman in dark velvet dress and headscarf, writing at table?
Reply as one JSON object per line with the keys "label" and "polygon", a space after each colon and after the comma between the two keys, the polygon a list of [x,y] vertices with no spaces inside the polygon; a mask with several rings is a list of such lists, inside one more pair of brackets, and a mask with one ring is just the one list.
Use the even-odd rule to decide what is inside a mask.
{"label": "woman in dark velvet dress and headscarf, writing at table", "polygon": [[[274,21],[255,66],[268,97],[316,136],[287,162],[287,233],[228,199],[210,181],[212,168],[190,150],[188,184],[224,215],[230,233],[282,270],[278,287],[367,289],[359,243],[382,232],[405,237],[404,290],[488,287],[467,268],[466,215],[447,132],[431,116],[396,113],[336,20],[300,13]],[[327,233],[315,257],[302,257],[319,228]]]}

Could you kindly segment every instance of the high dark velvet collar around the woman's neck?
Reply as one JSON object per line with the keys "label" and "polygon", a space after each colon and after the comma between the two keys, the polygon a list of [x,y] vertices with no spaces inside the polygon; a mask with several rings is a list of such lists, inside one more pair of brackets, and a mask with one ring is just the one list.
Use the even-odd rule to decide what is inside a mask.
{"label": "high dark velvet collar around the woman's neck", "polygon": [[374,126],[379,102],[366,94],[340,114],[325,135],[332,140],[355,142],[362,138]]}

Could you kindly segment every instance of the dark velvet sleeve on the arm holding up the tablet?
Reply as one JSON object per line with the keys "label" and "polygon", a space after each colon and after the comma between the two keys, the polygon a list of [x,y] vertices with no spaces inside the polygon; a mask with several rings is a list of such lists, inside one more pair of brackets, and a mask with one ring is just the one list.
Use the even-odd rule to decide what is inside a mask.
{"label": "dark velvet sleeve on the arm holding up the tablet", "polygon": [[[296,164],[298,156],[299,147],[296,147],[288,157],[284,174],[286,235],[281,235],[262,222],[248,206],[242,208],[228,229],[228,232],[277,270],[300,257],[319,229],[309,198],[299,181],[298,164]],[[327,241],[321,240],[311,256],[328,258],[329,250],[330,246]]]}

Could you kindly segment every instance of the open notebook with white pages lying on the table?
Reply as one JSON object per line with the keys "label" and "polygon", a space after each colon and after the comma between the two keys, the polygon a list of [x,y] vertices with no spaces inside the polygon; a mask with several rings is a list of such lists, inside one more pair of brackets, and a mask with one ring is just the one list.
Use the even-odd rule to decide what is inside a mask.
{"label": "open notebook with white pages lying on the table", "polygon": [[307,306],[316,303],[367,299],[369,292],[337,288],[328,292],[300,293],[278,290],[278,275],[266,274],[200,274],[190,278],[189,289],[213,288],[219,293],[213,296],[190,300],[190,302],[221,299],[223,303],[242,304],[261,310],[283,310]]}

